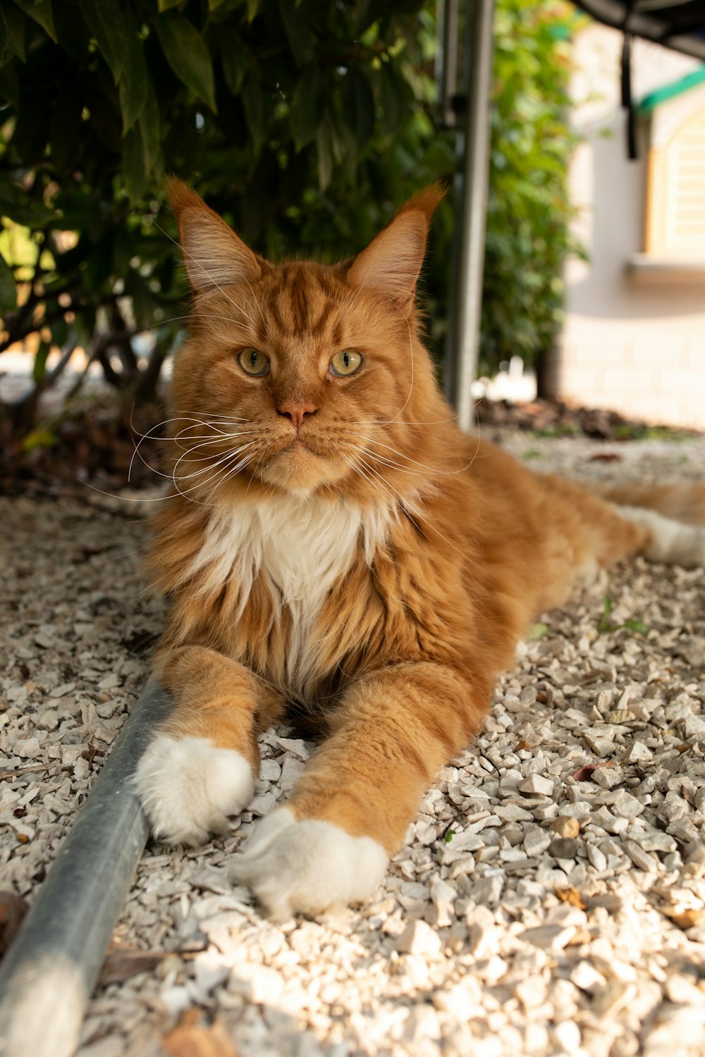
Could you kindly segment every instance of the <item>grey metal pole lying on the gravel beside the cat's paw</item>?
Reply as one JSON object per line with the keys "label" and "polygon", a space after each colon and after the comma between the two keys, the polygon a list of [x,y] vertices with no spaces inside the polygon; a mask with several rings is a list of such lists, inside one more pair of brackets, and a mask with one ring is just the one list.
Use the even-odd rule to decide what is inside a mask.
{"label": "grey metal pole lying on the gravel beside the cat's paw", "polygon": [[0,1055],[71,1057],[147,841],[131,778],[171,699],[150,680],[0,969]]}

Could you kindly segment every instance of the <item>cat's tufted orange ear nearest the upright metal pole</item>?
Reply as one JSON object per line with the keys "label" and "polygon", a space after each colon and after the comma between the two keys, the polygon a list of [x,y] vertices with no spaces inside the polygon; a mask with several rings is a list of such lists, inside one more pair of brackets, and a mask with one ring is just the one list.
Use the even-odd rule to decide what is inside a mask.
{"label": "cat's tufted orange ear nearest the upright metal pole", "polygon": [[349,278],[358,286],[383,291],[398,308],[410,311],[426,252],[428,226],[444,196],[445,189],[439,184],[414,194],[354,259]]}

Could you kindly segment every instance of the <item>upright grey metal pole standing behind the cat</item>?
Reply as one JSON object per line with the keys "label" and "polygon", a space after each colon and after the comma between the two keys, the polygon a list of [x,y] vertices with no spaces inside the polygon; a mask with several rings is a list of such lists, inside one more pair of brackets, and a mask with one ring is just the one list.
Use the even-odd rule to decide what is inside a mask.
{"label": "upright grey metal pole standing behind the cat", "polygon": [[461,429],[474,426],[470,387],[478,373],[482,276],[489,172],[489,93],[494,0],[467,0],[464,59],[465,128],[459,194],[457,282],[449,327],[446,392]]}

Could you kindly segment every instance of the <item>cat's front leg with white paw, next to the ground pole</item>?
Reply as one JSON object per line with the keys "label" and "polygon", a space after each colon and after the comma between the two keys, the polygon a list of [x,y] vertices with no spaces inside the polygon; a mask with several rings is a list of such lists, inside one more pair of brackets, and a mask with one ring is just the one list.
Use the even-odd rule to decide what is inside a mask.
{"label": "cat's front leg with white paw, next to the ground pole", "polygon": [[155,672],[174,708],[137,764],[136,789],[155,837],[202,843],[251,800],[258,724],[280,703],[247,668],[200,646],[163,653]]}

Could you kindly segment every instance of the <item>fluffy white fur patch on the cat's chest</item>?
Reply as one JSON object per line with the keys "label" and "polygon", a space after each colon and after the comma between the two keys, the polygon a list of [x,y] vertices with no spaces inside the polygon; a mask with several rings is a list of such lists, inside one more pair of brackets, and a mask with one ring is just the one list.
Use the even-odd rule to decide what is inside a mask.
{"label": "fluffy white fur patch on the cat's chest", "polygon": [[241,616],[259,574],[270,591],[274,618],[291,613],[286,673],[293,688],[305,680],[312,634],[334,582],[361,548],[371,563],[384,543],[393,507],[365,509],[344,500],[277,496],[214,513],[190,572],[203,570],[210,592],[231,576],[240,583]]}

